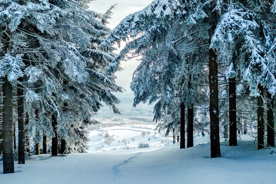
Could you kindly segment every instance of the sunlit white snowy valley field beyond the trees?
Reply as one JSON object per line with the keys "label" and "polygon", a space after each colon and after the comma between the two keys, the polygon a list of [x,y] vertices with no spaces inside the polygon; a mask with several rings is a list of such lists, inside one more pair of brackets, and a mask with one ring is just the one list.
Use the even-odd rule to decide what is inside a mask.
{"label": "sunlit white snowy valley field beyond the trees", "polygon": [[[159,148],[163,148],[167,145],[173,144],[173,138],[170,134],[169,136],[165,137],[165,132],[161,131],[158,133],[155,130],[155,125],[121,125],[121,126],[112,126],[112,127],[102,127],[99,129],[95,129],[90,131],[89,139],[90,148],[88,149],[88,153],[95,153],[95,152],[103,152],[103,151],[112,151],[114,152],[121,152],[120,150],[125,149],[125,147],[130,147],[127,152],[145,152],[145,151],[153,151]],[[145,136],[141,136],[142,132],[145,132]],[[102,136],[98,134],[102,133]],[[105,144],[105,135],[109,134],[113,136],[114,141],[111,145]],[[207,133],[206,133],[207,135]],[[132,140],[134,138],[134,141]],[[127,144],[123,144],[122,140],[125,139],[129,141]],[[150,140],[149,140],[150,139]],[[118,142],[120,141],[120,143]],[[194,137],[194,144],[206,144],[210,141],[209,136],[205,136],[204,138],[195,135]],[[143,148],[139,150],[132,150],[137,148],[139,143],[148,143],[150,148]],[[100,148],[100,149],[99,149]],[[116,150],[116,151],[115,151]],[[125,151],[124,151],[125,152]]]}

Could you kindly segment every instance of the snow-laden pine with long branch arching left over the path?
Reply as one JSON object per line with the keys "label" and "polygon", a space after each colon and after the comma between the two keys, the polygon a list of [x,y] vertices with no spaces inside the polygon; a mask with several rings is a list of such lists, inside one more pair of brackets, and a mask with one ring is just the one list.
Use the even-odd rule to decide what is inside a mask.
{"label": "snow-laden pine with long branch arching left over the path", "polygon": [[[189,34],[187,32],[192,27],[192,25],[186,25],[186,19],[189,16],[186,11],[185,2],[154,1],[144,10],[125,18],[102,43],[102,45],[113,42],[120,43],[121,40],[126,40],[125,33],[130,33],[131,37],[135,37],[139,33],[144,32],[142,36],[127,44],[121,54],[114,60],[116,65],[113,65],[112,68],[110,67],[110,70],[119,69],[120,59],[123,59],[125,54],[131,49],[135,50],[135,54],[143,56],[140,65],[134,72],[131,83],[131,88],[135,94],[133,105],[136,106],[140,102],[145,103],[147,100],[152,103],[161,98],[155,105],[155,120],[165,117],[163,113],[172,112],[166,109],[170,108],[169,104],[173,103],[175,94],[183,95],[182,101],[189,105],[193,104],[193,98],[195,98],[193,92],[191,92],[194,89],[191,86],[189,87],[187,82],[178,83],[176,81],[179,73],[183,76],[183,80],[188,81],[189,77],[186,77],[186,75],[189,76],[189,74],[186,71],[189,71],[189,69],[185,67],[188,59],[180,56],[189,55],[190,57],[190,53],[196,52],[197,48],[197,45],[191,44],[193,42],[192,39],[189,36],[185,36],[185,34]],[[205,15],[201,13],[202,11],[194,18],[201,19],[204,17]],[[180,20],[179,24],[174,24],[172,19],[176,22]],[[140,26],[140,22],[143,22],[143,26]],[[198,37],[198,34],[194,33],[194,36]],[[192,48],[189,50],[187,46]],[[193,65],[191,64],[191,66]],[[180,69],[177,71],[178,68]],[[185,86],[185,90],[180,90],[182,86]],[[179,91],[175,90],[176,88],[180,88],[178,89]],[[186,90],[187,88],[189,89]],[[163,107],[157,107],[157,105],[162,105]],[[174,122],[175,125],[177,125],[176,122]],[[192,120],[189,122],[192,122]],[[189,130],[191,130],[189,131],[191,132],[189,133],[190,136],[190,134],[193,134],[193,127],[190,128],[189,126]],[[191,142],[193,141],[192,137],[190,136]]]}

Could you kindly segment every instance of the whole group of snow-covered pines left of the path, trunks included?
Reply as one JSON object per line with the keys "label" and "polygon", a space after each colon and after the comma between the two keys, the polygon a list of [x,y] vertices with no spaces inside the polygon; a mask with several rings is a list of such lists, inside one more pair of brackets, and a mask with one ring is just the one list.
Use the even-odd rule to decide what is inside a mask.
{"label": "whole group of snow-covered pines left of the path, trunks included", "polygon": [[[0,1],[1,133],[3,173],[25,154],[85,152],[87,126],[109,105],[119,113],[122,91],[106,72],[117,55],[99,48],[113,6],[101,14],[87,0]],[[42,150],[41,151],[41,144]],[[18,146],[18,147],[17,147]]]}

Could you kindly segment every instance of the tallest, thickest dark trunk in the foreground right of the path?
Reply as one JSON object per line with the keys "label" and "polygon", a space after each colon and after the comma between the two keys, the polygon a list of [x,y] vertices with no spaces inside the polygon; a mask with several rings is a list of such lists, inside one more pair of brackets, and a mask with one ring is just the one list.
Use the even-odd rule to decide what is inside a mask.
{"label": "tallest, thickest dark trunk in the foreground right of the path", "polygon": [[[212,35],[212,34],[211,34]],[[209,49],[209,88],[210,88],[210,143],[211,158],[220,157],[220,129],[217,81],[217,54]]]}

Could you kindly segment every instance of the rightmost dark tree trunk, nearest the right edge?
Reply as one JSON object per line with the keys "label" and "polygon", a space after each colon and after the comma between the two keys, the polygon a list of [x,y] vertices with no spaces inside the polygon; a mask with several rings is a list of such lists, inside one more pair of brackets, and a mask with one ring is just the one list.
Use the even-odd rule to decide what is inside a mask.
{"label": "rightmost dark tree trunk, nearest the right edge", "polygon": [[274,97],[267,92],[267,147],[275,146],[274,136]]}

